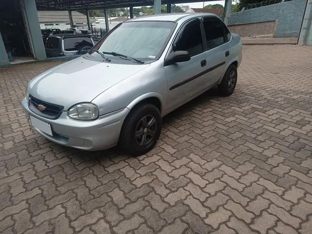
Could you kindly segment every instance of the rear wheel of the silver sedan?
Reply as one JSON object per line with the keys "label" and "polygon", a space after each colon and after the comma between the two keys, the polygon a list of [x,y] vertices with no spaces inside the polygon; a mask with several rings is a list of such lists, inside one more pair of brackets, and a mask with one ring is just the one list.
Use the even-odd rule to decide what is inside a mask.
{"label": "rear wheel of the silver sedan", "polygon": [[218,85],[219,93],[222,96],[230,96],[235,89],[237,82],[237,68],[232,64],[225,72],[221,83]]}

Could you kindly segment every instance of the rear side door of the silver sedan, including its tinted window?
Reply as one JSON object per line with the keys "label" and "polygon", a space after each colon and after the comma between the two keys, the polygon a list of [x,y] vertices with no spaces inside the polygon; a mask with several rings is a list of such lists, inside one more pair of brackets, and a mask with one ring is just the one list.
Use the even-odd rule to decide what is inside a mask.
{"label": "rear side door of the silver sedan, including its tinted window", "polygon": [[223,76],[227,64],[230,62],[231,34],[223,21],[217,17],[202,18],[206,45],[207,63],[212,83],[216,83]]}

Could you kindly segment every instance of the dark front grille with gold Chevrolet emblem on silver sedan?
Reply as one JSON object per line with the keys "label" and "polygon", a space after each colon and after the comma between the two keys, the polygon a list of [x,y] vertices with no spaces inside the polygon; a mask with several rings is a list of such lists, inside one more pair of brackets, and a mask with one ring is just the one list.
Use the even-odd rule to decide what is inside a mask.
{"label": "dark front grille with gold Chevrolet emblem on silver sedan", "polygon": [[[45,109],[40,110],[40,105],[43,106],[43,108],[45,107]],[[64,107],[42,101],[32,95],[29,95],[29,109],[39,116],[49,119],[57,119],[62,114]]]}

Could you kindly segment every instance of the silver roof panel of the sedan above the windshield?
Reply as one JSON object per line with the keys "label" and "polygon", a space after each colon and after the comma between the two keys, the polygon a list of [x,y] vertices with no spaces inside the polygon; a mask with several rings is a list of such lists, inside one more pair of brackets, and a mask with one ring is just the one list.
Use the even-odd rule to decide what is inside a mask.
{"label": "silver roof panel of the sedan above the windshield", "polygon": [[170,14],[159,14],[159,15],[136,17],[136,18],[127,20],[127,22],[130,22],[130,21],[176,21],[177,22],[188,16],[194,16],[194,17],[215,16],[215,14],[212,14],[212,13],[170,13]]}

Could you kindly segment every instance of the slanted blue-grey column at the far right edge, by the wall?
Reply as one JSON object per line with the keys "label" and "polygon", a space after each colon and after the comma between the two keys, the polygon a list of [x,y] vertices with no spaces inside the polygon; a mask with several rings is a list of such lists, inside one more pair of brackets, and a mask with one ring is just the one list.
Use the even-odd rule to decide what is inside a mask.
{"label": "slanted blue-grey column at the far right edge, by the wall", "polygon": [[307,1],[298,45],[312,45],[312,0]]}

